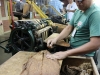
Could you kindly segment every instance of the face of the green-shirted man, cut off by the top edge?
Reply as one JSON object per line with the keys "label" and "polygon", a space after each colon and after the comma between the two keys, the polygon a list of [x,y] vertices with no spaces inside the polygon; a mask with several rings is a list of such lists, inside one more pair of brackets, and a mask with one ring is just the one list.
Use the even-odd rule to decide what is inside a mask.
{"label": "face of the green-shirted man, cut off by the top edge", "polygon": [[91,6],[91,3],[92,3],[92,0],[75,0],[75,1],[78,8],[83,11],[87,10]]}

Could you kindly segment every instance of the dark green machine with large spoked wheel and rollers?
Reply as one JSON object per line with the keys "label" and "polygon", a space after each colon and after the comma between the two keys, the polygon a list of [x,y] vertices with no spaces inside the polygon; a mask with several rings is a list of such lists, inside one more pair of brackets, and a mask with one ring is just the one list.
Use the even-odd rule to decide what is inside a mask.
{"label": "dark green machine with large spoked wheel and rollers", "polygon": [[18,51],[40,51],[45,49],[44,40],[54,32],[47,20],[19,20],[14,21],[14,29],[5,49],[6,53],[12,54]]}

